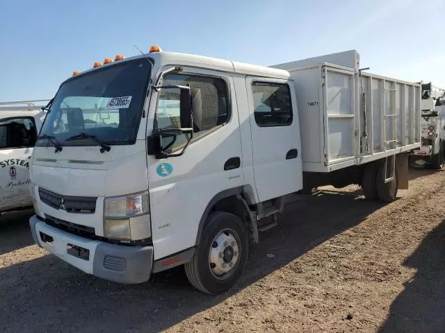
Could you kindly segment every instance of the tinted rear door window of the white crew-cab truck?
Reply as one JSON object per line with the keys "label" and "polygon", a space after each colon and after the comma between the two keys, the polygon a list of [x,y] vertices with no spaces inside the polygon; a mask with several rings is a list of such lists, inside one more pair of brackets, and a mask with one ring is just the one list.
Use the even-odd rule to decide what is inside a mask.
{"label": "tinted rear door window of the white crew-cab truck", "polygon": [[289,126],[292,104],[289,86],[282,83],[252,83],[254,117],[260,127]]}

